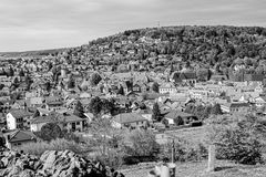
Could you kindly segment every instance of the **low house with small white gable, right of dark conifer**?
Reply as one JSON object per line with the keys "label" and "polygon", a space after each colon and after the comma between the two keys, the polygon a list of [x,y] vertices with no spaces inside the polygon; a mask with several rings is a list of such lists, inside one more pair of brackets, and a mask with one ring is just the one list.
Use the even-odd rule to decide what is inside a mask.
{"label": "low house with small white gable, right of dark conifer", "polygon": [[193,121],[198,121],[198,118],[195,115],[188,114],[188,113],[184,113],[184,112],[180,112],[176,110],[172,110],[170,111],[170,113],[164,115],[164,118],[167,119],[170,125],[174,125],[175,124],[175,119],[181,117],[184,121],[184,124],[190,124]]}

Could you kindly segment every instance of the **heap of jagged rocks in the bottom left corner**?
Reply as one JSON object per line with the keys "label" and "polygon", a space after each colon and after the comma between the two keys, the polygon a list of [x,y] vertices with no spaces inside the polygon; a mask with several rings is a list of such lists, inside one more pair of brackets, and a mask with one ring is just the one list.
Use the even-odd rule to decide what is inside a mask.
{"label": "heap of jagged rocks in the bottom left corner", "polygon": [[40,158],[17,152],[2,152],[0,176],[4,177],[123,177],[70,152],[47,150]]}

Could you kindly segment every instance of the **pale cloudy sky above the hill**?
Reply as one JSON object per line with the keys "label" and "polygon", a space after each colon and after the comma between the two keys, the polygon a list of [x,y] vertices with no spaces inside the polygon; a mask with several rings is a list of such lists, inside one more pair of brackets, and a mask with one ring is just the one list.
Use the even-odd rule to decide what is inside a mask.
{"label": "pale cloudy sky above the hill", "polygon": [[79,46],[124,30],[266,27],[266,0],[0,0],[0,52]]}

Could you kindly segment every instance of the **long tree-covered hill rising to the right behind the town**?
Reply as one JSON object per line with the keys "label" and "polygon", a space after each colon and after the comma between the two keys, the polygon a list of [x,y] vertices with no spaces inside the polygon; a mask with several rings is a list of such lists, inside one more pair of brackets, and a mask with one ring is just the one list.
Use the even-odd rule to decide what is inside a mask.
{"label": "long tree-covered hill rising to the right behind the town", "polygon": [[[63,54],[62,54],[63,53]],[[48,55],[68,64],[133,71],[208,69],[228,75],[235,65],[246,73],[264,73],[266,29],[260,27],[163,27],[127,30],[89,44],[60,50],[2,53],[4,56]],[[121,66],[121,64],[124,64]],[[201,75],[201,74],[200,74]]]}

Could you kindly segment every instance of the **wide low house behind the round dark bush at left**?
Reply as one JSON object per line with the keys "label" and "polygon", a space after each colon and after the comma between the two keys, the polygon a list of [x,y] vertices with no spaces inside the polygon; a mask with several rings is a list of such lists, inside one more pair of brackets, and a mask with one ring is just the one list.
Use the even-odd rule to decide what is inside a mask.
{"label": "wide low house behind the round dark bush at left", "polygon": [[61,128],[68,129],[69,132],[83,131],[85,126],[85,119],[78,117],[74,114],[50,114],[48,116],[39,116],[32,119],[30,129],[32,132],[40,132],[42,126],[48,123],[59,122]]}

